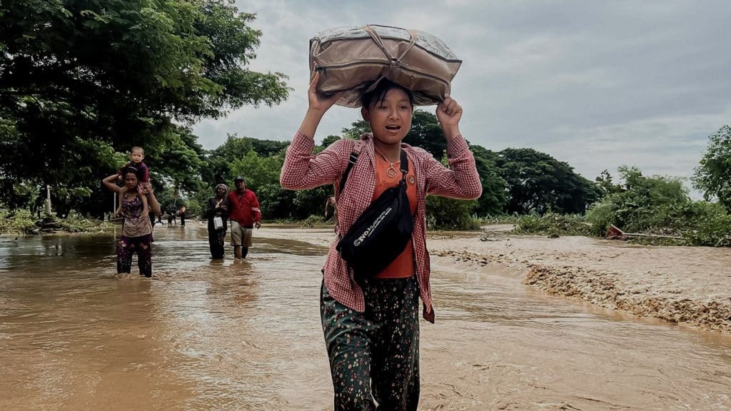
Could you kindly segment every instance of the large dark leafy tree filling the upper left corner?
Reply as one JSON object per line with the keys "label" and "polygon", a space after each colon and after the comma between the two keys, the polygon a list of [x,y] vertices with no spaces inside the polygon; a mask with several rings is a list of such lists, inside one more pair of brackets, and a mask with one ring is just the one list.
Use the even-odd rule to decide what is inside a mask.
{"label": "large dark leafy tree filling the upper left corner", "polygon": [[[260,44],[253,20],[227,0],[3,1],[3,186],[48,184],[64,214],[124,161],[115,152],[143,146],[163,173],[164,148],[197,151],[176,124],[283,101],[284,75],[246,68]],[[158,180],[190,186],[192,163]]]}

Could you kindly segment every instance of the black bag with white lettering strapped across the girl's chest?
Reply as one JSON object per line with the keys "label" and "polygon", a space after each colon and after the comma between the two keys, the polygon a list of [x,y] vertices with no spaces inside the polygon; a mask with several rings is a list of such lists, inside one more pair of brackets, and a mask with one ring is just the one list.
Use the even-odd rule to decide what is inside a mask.
{"label": "black bag with white lettering strapped across the girl's chest", "polygon": [[[351,162],[340,184],[342,192],[350,167],[357,159],[351,154]],[[360,214],[347,233],[338,241],[336,250],[350,267],[357,279],[370,278],[383,271],[404,252],[414,232],[414,218],[406,195],[406,173],[409,159],[401,150],[401,181],[398,186],[386,189],[363,214]]]}

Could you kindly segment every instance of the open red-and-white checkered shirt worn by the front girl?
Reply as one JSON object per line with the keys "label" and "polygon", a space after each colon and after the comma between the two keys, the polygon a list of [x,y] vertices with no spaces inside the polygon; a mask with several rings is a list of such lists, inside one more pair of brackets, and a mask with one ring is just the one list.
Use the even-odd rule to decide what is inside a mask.
{"label": "open red-and-white checkered shirt worn by the front girl", "polygon": [[[376,188],[373,137],[368,134],[360,138],[364,142],[360,157],[350,170],[345,189],[336,197],[339,232],[338,237],[330,245],[322,271],[325,274],[325,287],[330,295],[344,306],[363,312],[366,309],[363,291],[353,280],[352,270],[335,249],[339,233],[346,233],[350,225],[368,208]],[[287,157],[281,168],[279,176],[281,186],[285,189],[311,189],[323,184],[339,184],[355,143],[355,140],[350,139],[338,140],[315,156],[312,154],[314,148],[312,137],[297,132],[292,144],[287,148]],[[423,148],[404,143],[401,143],[401,148],[406,151],[417,178],[418,200],[413,234],[414,261],[424,305],[423,316],[433,323],[434,312],[429,283],[431,267],[426,249],[425,197],[430,194],[473,199],[482,194],[482,185],[474,165],[474,157],[462,136],[453,138],[447,146],[450,168],[444,167]]]}

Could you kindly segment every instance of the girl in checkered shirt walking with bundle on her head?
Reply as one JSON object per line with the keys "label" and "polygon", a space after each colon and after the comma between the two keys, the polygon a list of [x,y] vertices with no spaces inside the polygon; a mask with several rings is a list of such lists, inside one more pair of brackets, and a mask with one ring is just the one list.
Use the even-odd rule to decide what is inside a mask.
{"label": "girl in checkered shirt walking with bundle on her head", "polygon": [[[462,108],[447,97],[436,116],[447,140],[450,167],[422,148],[401,143],[414,110],[409,90],[388,80],[363,95],[361,115],[372,134],[338,140],[313,155],[314,133],[341,94],[317,93],[319,72],[308,91],[309,108],[287,148],[280,182],[285,189],[337,184],[349,157],[360,150],[347,184],[336,188],[338,237],[330,246],[320,293],[336,410],[416,410],[419,401],[419,298],[423,316],[433,323],[430,266],[425,236],[425,197],[480,197],[482,186],[474,157],[459,131]],[[401,151],[408,159],[406,194],[414,216],[412,240],[394,261],[372,278],[358,279],[338,254],[339,238],[371,201],[402,178]]]}

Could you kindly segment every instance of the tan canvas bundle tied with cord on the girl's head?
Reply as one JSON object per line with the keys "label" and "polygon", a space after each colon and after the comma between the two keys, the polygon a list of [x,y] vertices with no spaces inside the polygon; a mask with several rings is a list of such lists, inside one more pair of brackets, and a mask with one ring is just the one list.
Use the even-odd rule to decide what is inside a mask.
{"label": "tan canvas bundle tied with cord on the girl's head", "polygon": [[450,94],[462,61],[442,40],[423,31],[390,26],[338,27],[310,39],[310,67],[317,91],[344,91],[337,105],[356,108],[374,83],[387,78],[414,94],[414,104],[433,105]]}

